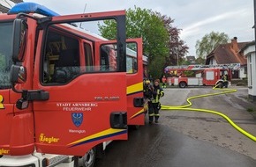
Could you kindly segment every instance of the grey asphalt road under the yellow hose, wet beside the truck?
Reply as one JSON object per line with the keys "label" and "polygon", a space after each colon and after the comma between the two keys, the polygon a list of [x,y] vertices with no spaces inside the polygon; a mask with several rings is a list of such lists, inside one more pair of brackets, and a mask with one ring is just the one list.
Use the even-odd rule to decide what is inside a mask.
{"label": "grey asphalt road under the yellow hose, wet beside the truck", "polygon": [[[192,100],[192,108],[226,114],[237,126],[256,135],[256,120],[248,109],[247,89]],[[211,88],[166,89],[162,105],[186,105],[186,98],[215,92]],[[226,120],[211,113],[162,110],[159,124],[129,129],[128,141],[109,144],[96,167],[255,167],[256,143]]]}

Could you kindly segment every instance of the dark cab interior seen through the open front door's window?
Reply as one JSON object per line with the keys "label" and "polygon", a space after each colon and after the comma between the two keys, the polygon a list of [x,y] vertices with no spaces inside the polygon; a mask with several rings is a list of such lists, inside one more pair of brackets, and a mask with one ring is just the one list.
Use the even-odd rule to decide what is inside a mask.
{"label": "dark cab interior seen through the open front door's window", "polygon": [[49,28],[43,57],[43,83],[66,84],[80,73],[79,40]]}

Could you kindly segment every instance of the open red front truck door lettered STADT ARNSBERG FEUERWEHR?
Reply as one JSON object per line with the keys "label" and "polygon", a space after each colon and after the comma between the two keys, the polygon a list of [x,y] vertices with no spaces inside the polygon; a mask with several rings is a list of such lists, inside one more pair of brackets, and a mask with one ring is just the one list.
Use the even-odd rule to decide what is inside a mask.
{"label": "open red front truck door lettered STADT ARNSBERG FEUERWEHR", "polygon": [[[112,13],[117,27],[122,13]],[[110,42],[97,46],[95,40],[101,39],[63,24],[83,16],[53,17],[39,33],[34,90],[48,91],[49,100],[33,102],[38,152],[83,156],[102,142],[127,139],[126,71],[120,69],[125,40],[117,40],[117,66],[109,69],[101,59]],[[100,16],[95,14],[96,19]],[[94,14],[87,17],[91,21]],[[123,29],[117,32],[125,34]]]}

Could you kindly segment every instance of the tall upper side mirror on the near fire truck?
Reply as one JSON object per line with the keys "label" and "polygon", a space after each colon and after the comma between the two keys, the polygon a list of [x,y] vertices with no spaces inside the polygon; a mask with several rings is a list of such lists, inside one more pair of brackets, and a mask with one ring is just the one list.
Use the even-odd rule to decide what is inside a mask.
{"label": "tall upper side mirror on the near fire truck", "polygon": [[15,19],[13,22],[13,42],[11,58],[13,62],[23,62],[26,48],[27,25],[22,19]]}

